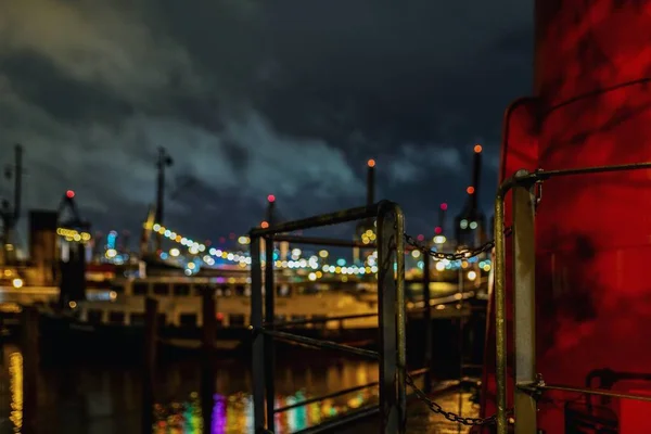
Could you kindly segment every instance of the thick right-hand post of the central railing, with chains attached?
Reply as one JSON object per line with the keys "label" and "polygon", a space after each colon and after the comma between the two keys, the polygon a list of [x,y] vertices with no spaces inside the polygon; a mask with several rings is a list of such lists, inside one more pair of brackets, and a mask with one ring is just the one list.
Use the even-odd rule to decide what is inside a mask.
{"label": "thick right-hand post of the central railing, with chains attached", "polygon": [[406,427],[404,228],[405,219],[400,208],[391,202],[383,202],[378,215],[378,315],[380,418],[382,433],[385,434],[404,434]]}

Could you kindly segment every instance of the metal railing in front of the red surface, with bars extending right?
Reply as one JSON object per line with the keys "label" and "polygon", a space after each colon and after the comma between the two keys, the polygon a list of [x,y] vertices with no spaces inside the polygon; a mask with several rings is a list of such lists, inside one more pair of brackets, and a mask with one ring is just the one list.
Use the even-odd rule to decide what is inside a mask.
{"label": "metal railing in front of the red surface, with bars extending right", "polygon": [[537,399],[545,391],[574,392],[627,399],[651,400],[648,396],[615,393],[590,387],[545,384],[536,372],[535,318],[535,212],[537,186],[550,178],[586,174],[651,169],[651,163],[599,166],[567,170],[519,170],[498,189],[495,200],[495,304],[496,304],[496,383],[497,432],[507,434],[507,311],[506,311],[506,240],[505,199],[513,197],[513,341],[514,341],[514,429],[515,433],[537,430]]}

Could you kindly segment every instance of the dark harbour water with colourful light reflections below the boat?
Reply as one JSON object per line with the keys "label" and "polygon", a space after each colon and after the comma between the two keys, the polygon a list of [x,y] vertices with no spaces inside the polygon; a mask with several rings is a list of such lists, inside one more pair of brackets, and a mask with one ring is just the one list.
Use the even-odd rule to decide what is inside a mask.
{"label": "dark harbour water with colourful light reflections below the boat", "polygon": [[[23,424],[23,357],[4,346],[0,375],[0,418],[20,433]],[[291,406],[378,381],[378,365],[345,359],[296,357],[276,373],[276,407]],[[154,406],[155,434],[253,433],[247,362],[224,361],[217,369],[210,430],[204,430],[195,362],[161,367]],[[140,430],[140,372],[119,367],[44,367],[39,375],[39,432],[114,433]],[[378,401],[378,388],[293,408],[276,416],[276,432],[289,434]],[[2,431],[4,432],[4,431]]]}

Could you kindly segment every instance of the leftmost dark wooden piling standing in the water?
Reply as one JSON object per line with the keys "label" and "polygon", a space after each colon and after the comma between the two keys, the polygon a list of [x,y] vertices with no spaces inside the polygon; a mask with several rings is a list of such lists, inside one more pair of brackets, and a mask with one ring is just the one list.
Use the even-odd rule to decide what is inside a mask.
{"label": "leftmost dark wooden piling standing in the water", "polygon": [[23,430],[24,434],[36,433],[38,411],[38,310],[24,306],[21,314],[23,354]]}

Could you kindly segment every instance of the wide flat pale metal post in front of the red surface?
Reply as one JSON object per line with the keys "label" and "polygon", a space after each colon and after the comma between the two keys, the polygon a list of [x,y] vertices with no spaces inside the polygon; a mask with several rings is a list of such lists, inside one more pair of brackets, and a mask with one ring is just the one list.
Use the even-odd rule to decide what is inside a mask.
{"label": "wide flat pale metal post in front of the red surface", "polygon": [[[520,170],[518,176],[528,171]],[[515,353],[515,434],[535,433],[536,399],[520,386],[536,382],[536,281],[534,186],[513,188],[513,334]]]}

